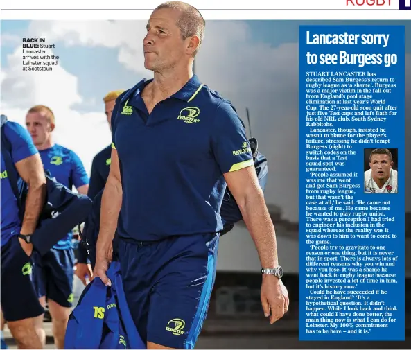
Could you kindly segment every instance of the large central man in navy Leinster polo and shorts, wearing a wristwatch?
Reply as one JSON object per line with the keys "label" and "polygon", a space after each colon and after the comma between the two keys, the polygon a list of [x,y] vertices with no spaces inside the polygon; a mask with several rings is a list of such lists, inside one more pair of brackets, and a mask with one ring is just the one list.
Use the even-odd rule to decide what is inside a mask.
{"label": "large central man in navy Leinster polo and shorts, wearing a wristwatch", "polygon": [[271,323],[286,312],[288,294],[243,125],[231,103],[193,75],[204,19],[171,1],[152,12],[147,32],[144,65],[154,79],[114,107],[94,277],[110,283],[117,230],[125,297],[147,348],[191,349],[213,288],[226,186],[259,252]]}

